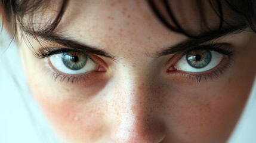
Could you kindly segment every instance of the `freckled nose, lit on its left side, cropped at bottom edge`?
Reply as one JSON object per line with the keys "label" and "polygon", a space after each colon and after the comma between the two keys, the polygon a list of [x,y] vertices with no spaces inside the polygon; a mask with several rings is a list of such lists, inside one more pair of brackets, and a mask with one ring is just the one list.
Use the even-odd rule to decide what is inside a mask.
{"label": "freckled nose, lit on its left side, cropped at bottom edge", "polygon": [[[149,76],[133,71],[119,76],[119,114],[113,123],[112,138],[116,142],[161,142],[164,126],[154,113]],[[151,88],[151,89],[150,89]]]}

